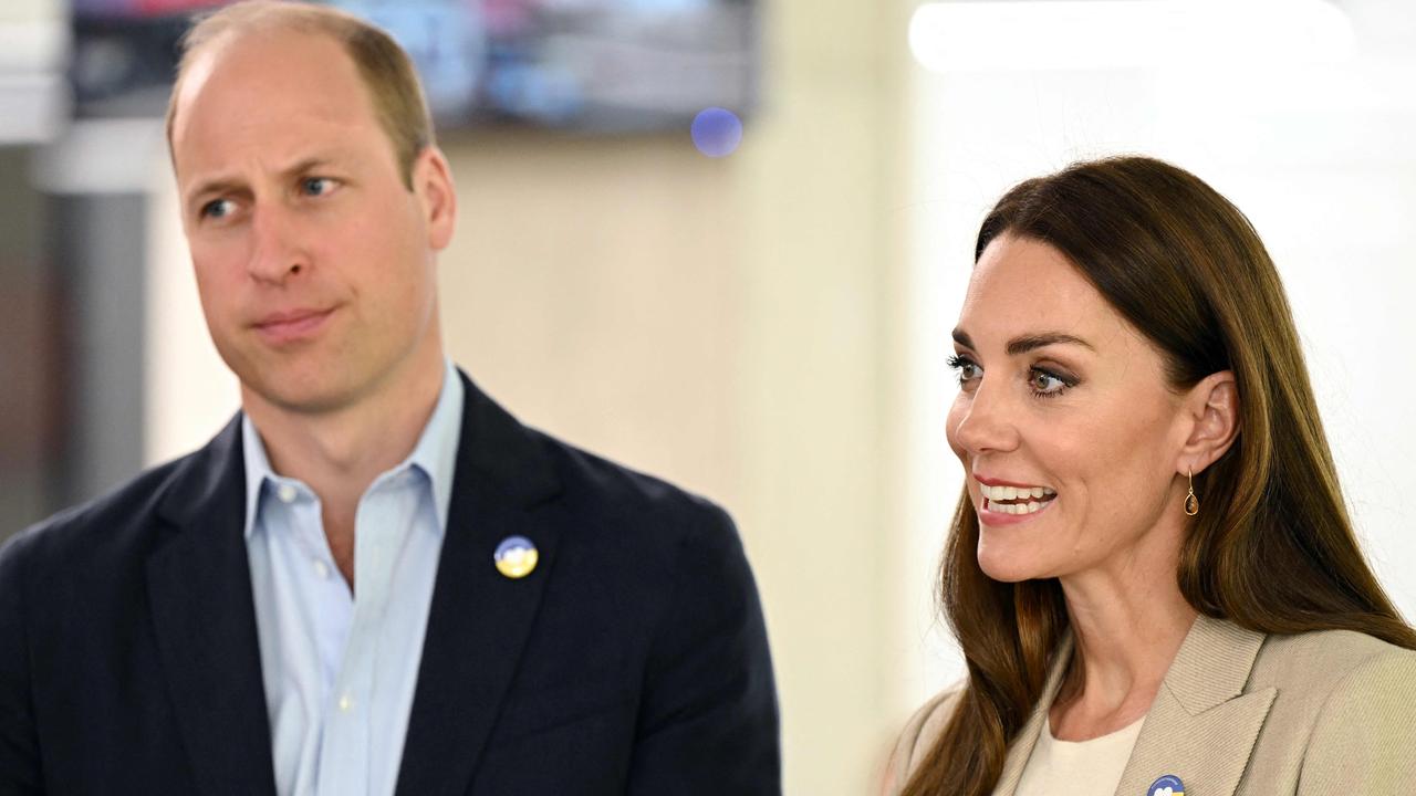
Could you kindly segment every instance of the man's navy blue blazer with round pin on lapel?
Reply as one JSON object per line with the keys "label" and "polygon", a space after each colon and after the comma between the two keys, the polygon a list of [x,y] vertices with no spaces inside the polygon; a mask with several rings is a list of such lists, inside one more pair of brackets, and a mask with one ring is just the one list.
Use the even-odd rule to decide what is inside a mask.
{"label": "man's navy blue blazer with round pin on lapel", "polygon": [[[728,516],[463,382],[398,795],[780,793]],[[0,548],[0,795],[275,793],[239,431]],[[539,550],[518,581],[513,534]]]}

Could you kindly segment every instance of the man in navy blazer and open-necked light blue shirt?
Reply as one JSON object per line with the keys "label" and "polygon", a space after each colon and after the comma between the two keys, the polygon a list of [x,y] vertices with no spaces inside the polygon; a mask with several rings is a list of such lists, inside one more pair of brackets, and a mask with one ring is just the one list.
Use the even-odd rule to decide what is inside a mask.
{"label": "man in navy blazer and open-necked light blue shirt", "polygon": [[0,793],[777,793],[728,517],[445,360],[456,195],[406,55],[234,6],[169,139],[242,412],[0,552]]}

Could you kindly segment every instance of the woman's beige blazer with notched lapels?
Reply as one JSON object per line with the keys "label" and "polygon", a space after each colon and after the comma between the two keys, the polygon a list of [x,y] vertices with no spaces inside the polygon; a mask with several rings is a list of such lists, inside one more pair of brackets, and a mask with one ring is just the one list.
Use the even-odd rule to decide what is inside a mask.
{"label": "woman's beige blazer with notched lapels", "polygon": [[[1014,738],[994,796],[1012,796],[1070,657],[1068,636]],[[949,720],[959,688],[910,718],[891,796]],[[1185,796],[1400,795],[1416,786],[1416,652],[1347,630],[1264,636],[1201,616],[1146,714],[1117,796],[1163,775]],[[1056,793],[1066,793],[1058,783]]]}

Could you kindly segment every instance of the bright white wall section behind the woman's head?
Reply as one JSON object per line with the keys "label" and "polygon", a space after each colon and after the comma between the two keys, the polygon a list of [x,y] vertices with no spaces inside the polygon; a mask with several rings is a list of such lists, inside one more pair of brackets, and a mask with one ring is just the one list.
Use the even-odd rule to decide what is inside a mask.
{"label": "bright white wall section behind the woman's head", "polygon": [[[956,388],[943,357],[978,222],[1022,177],[1137,152],[1197,173],[1257,227],[1293,303],[1358,533],[1399,608],[1416,618],[1416,572],[1405,564],[1416,558],[1416,537],[1402,506],[1405,484],[1416,482],[1416,419],[1408,409],[1416,388],[1409,364],[1416,313],[1408,306],[1416,289],[1416,93],[1409,88],[1416,84],[1416,6],[1342,3],[1349,31],[1323,17],[1303,47],[1264,54],[1264,37],[1304,30],[1291,16],[1280,20],[1291,6],[1269,8],[1276,24],[1247,14],[1223,31],[1225,41],[1247,42],[1242,51],[1226,51],[1223,41],[1211,47],[1201,30],[1158,59],[1121,52],[1107,65],[1079,69],[1068,67],[1066,51],[1059,51],[1063,61],[1031,67],[1020,52],[1021,68],[953,62],[912,72],[916,582],[933,576],[939,528],[961,486],[944,445],[944,408]],[[991,35],[1007,51],[1018,33],[981,27],[974,35]],[[1068,41],[1068,31],[1051,34]],[[1099,35],[1104,47],[1148,34],[1121,25]],[[1095,67],[1097,54],[1083,47],[1079,57]],[[930,630],[933,606],[912,609],[922,639],[913,657],[927,673],[912,694],[918,703],[963,670],[947,635]]]}

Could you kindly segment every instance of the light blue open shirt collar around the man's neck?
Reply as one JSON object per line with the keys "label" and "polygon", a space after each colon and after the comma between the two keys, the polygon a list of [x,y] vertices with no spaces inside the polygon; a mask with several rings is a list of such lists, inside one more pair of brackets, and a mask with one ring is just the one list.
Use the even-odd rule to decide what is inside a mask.
{"label": "light blue open shirt collar around the man's neck", "polygon": [[[452,479],[457,465],[457,443],[462,439],[462,409],[463,394],[462,380],[452,360],[443,360],[443,384],[438,394],[438,404],[433,406],[428,425],[423,426],[418,445],[408,459],[392,470],[402,470],[415,466],[428,476],[433,487],[433,504],[438,508],[438,530],[447,528],[447,511],[452,506]],[[283,479],[270,469],[270,459],[266,456],[265,443],[256,432],[251,416],[241,416],[241,450],[246,469],[246,516],[244,535],[246,540],[256,527],[256,510],[261,506],[261,491],[269,482],[292,482]]]}

